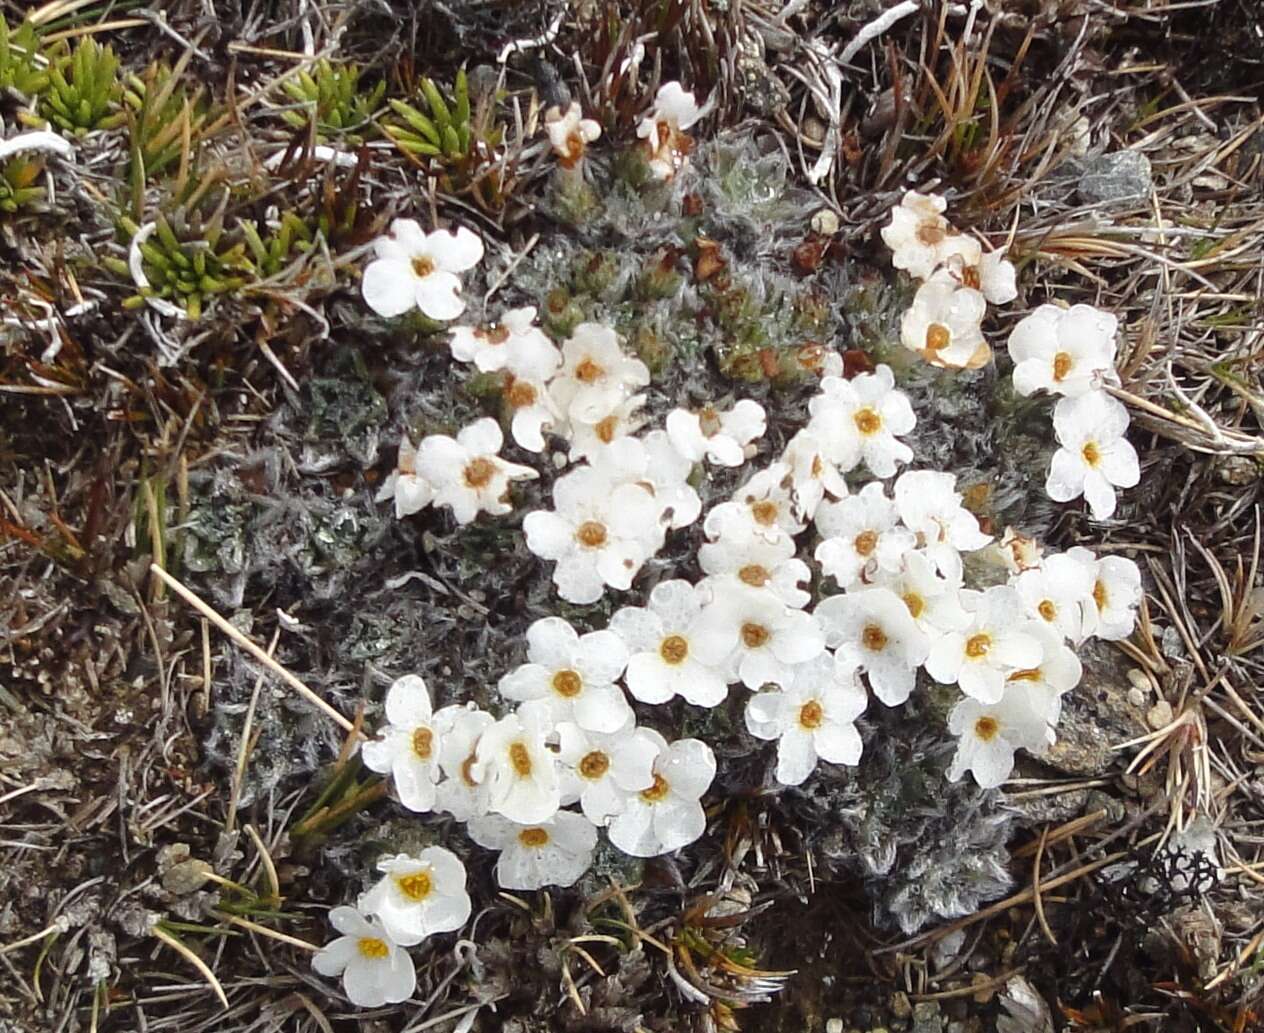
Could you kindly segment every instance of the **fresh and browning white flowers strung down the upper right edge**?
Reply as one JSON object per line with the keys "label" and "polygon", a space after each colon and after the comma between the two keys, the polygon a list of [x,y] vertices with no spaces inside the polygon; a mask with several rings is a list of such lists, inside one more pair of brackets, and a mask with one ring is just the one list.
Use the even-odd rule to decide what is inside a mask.
{"label": "fresh and browning white flowers strung down the upper right edge", "polygon": [[[983,253],[943,212],[947,202],[915,191],[891,210],[882,239],[891,264],[923,281],[904,314],[905,346],[932,365],[977,369],[991,358],[982,334],[987,305],[1018,297],[1005,253]],[[1115,512],[1115,488],[1140,480],[1136,451],[1125,434],[1127,408],[1103,388],[1119,383],[1115,334],[1119,321],[1091,305],[1042,305],[1010,333],[1014,387],[1020,394],[1060,396],[1053,427],[1054,453],[1045,491],[1055,502],[1083,496],[1096,520]]]}

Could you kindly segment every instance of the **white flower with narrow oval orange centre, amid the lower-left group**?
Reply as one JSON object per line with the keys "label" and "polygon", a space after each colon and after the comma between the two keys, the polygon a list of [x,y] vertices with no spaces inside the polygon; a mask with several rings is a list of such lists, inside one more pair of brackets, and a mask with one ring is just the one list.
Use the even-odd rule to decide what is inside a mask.
{"label": "white flower with narrow oval orange centre, amid the lower-left group", "polygon": [[479,737],[470,776],[488,786],[488,808],[509,821],[546,822],[557,813],[557,759],[545,746],[551,718],[546,703],[525,703]]}

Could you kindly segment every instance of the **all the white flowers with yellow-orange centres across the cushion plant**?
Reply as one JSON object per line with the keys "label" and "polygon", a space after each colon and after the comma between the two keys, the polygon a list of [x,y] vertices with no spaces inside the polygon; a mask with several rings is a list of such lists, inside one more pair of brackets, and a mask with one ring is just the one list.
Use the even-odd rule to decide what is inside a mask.
{"label": "all the white flowers with yellow-orange centres across the cushion plant", "polygon": [[[676,83],[660,91],[646,120],[651,131],[641,134],[670,152],[656,157],[667,177],[688,153],[676,137],[698,116],[693,97],[685,94],[685,105],[680,94]],[[578,109],[549,125],[559,154],[575,161],[593,138]],[[925,281],[904,320],[905,343],[939,365],[964,368],[990,354],[978,322],[987,301],[1015,296],[1014,271],[1004,255],[983,254],[953,233],[943,207],[940,199],[909,193],[884,238],[896,266]],[[403,262],[397,250],[416,244],[407,239],[397,223],[370,269]],[[408,269],[418,282],[434,276]],[[392,267],[375,278],[387,283],[403,272]],[[368,273],[365,279],[368,297]],[[421,287],[410,290],[425,310]],[[425,297],[434,301],[431,287]],[[1020,389],[1060,392],[1079,406],[1115,405],[1096,389],[1102,363],[1114,357],[1114,321],[1077,311],[1083,307],[1044,306],[1019,325],[1010,346]],[[466,823],[475,843],[498,852],[504,889],[574,884],[602,829],[637,857],[702,836],[715,756],[696,738],[667,742],[638,724],[651,707],[679,697],[713,708],[742,685],[746,728],[776,743],[775,779],[799,785],[822,761],[858,764],[856,721],[870,694],[899,707],[924,669],[961,692],[948,717],[957,737],[948,778],[969,771],[991,788],[1009,778],[1016,750],[1054,742],[1062,697],[1082,673],[1073,647],[1131,632],[1141,593],[1134,563],[1082,547],[1044,555],[1012,530],[995,542],[963,506],[952,474],[901,469],[914,458],[901,439],[916,416],[889,367],[847,379],[841,363],[822,363],[806,425],[704,516],[691,482],[707,475],[707,464],[739,468],[757,455],[762,406],[738,400],[676,408],[664,427],[647,430],[640,392],[650,372],[618,335],[585,322],[559,348],[535,315],[517,309],[492,326],[455,327],[451,351],[504,377],[520,446],[542,453],[546,431],[565,443],[554,459],[574,465],[555,479],[552,508],[523,520],[527,546],[554,564],[557,594],[586,604],[609,588],[629,589],[666,535],[698,520],[705,542],[696,583],[659,582],[645,606],[617,609],[605,628],[535,621],[526,661],[499,679],[501,713],[471,702],[434,709],[417,675],[389,688],[387,724],[364,743],[364,764],[389,776],[407,809]],[[1060,406],[1054,420],[1063,451],[1078,449],[1095,472],[1121,483],[1097,468],[1117,473],[1122,426],[1112,439],[1092,436],[1105,417]],[[502,460],[502,444],[492,419],[455,439],[431,435],[416,448],[404,439],[379,497],[393,498],[401,516],[431,502],[451,507],[461,523],[480,512],[506,513],[511,482],[537,472]],[[1073,482],[1073,473],[1071,459],[1055,456],[1050,486],[1055,477],[1059,486]],[[1087,475],[1076,483],[1096,510],[1100,484],[1090,487]],[[994,563],[963,561],[980,550]],[[988,583],[978,573],[987,569],[1007,577]],[[820,584],[832,594],[814,594]],[[356,908],[331,913],[344,936],[316,956],[319,971],[343,975],[356,1004],[408,996],[415,976],[403,948],[459,928],[470,912],[464,866],[447,850],[389,856],[378,867],[383,877]]]}

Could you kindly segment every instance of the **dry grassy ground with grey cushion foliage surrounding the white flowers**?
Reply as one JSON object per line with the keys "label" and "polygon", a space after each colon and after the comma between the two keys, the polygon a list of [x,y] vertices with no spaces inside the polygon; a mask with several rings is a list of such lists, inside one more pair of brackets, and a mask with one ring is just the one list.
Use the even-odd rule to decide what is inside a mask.
{"label": "dry grassy ground with grey cushion foliage surrounding the white flowers", "polygon": [[[1264,21],[1248,0],[1029,0],[884,28],[896,6],[59,1],[24,30],[4,6],[3,137],[47,121],[73,153],[0,164],[0,1028],[1264,1028]],[[118,56],[94,54],[96,86],[66,63],[92,42]],[[437,156],[398,107],[435,114],[421,76],[464,126]],[[661,187],[635,126],[671,80],[713,107]],[[603,125],[579,191],[540,130],[565,96]],[[909,186],[1019,266],[982,369],[899,344],[911,286],[876,230]],[[532,620],[604,622],[609,601],[559,608],[526,549],[547,472],[465,527],[374,501],[402,434],[499,415],[434,325],[364,306],[396,215],[482,234],[471,319],[618,329],[651,420],[755,397],[771,453],[820,349],[890,363],[919,460],[990,527],[1140,564],[1136,633],[1085,654],[1057,746],[1001,790],[943,780],[929,683],[871,709],[854,771],[785,792],[736,704],[666,708],[720,756],[707,834],[498,893],[485,851],[387,799],[335,723],[149,573],[369,724],[401,674],[493,704]],[[211,241],[210,278],[168,293],[191,319],[128,267],[158,221],[150,272]],[[1047,407],[1009,387],[1000,345],[1049,300],[1124,327],[1143,480],[1106,523],[1044,497]],[[696,573],[700,534],[645,580]],[[358,1012],[306,946],[375,856],[428,842],[465,857],[478,918],[418,953],[412,1003]]]}

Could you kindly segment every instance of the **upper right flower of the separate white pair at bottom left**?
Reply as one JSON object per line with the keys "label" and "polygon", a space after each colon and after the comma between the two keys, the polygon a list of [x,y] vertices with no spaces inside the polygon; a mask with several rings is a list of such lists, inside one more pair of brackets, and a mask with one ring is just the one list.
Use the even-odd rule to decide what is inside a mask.
{"label": "upper right flower of the separate white pair at bottom left", "polygon": [[436,933],[459,929],[470,917],[465,865],[450,850],[430,846],[416,855],[394,853],[377,864],[382,879],[360,896],[396,943],[411,947]]}

